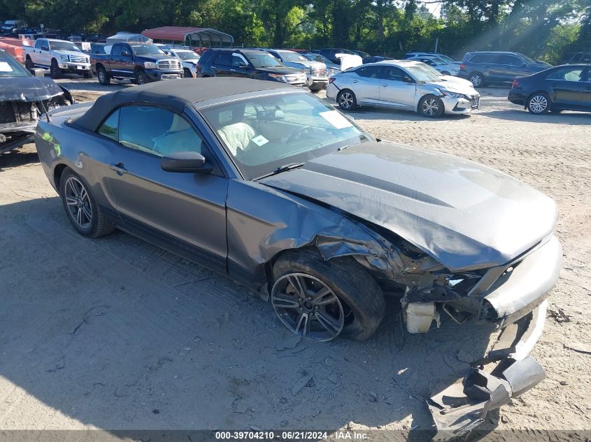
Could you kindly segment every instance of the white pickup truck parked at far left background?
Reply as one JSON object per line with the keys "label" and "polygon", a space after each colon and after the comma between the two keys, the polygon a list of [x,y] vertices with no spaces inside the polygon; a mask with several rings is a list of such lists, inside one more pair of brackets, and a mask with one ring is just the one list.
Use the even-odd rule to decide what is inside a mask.
{"label": "white pickup truck parked at far left background", "polygon": [[35,45],[23,46],[24,66],[49,69],[51,78],[59,78],[64,72],[77,73],[92,78],[90,57],[71,41],[38,38]]}

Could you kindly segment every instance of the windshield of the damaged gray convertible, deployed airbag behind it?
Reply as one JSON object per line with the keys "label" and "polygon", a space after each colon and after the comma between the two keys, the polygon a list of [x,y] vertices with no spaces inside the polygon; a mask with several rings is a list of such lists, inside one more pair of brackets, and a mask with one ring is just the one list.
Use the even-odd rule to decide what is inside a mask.
{"label": "windshield of the damaged gray convertible, deployed airbag behind it", "polygon": [[246,179],[372,140],[331,105],[301,91],[244,98],[202,113]]}

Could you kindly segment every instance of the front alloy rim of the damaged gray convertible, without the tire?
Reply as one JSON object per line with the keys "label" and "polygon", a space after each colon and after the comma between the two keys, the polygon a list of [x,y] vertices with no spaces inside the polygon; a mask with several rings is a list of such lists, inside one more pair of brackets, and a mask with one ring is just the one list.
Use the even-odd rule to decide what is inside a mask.
{"label": "front alloy rim of the damaged gray convertible, without the tire", "polygon": [[318,341],[339,336],[345,325],[343,304],[320,279],[305,273],[280,277],[271,290],[271,304],[292,332]]}

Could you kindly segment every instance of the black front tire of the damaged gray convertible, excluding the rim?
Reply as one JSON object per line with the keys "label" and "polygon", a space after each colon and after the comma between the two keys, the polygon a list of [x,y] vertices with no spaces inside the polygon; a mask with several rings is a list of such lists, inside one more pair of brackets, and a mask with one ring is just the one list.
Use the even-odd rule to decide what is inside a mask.
{"label": "black front tire of the damaged gray convertible, excluding the rim", "polygon": [[[355,258],[343,256],[324,260],[316,249],[285,251],[273,265],[273,280],[277,282],[294,273],[320,280],[341,302],[345,321],[338,336],[364,341],[380,325],[386,311],[383,292]],[[277,309],[276,312],[279,315]]]}

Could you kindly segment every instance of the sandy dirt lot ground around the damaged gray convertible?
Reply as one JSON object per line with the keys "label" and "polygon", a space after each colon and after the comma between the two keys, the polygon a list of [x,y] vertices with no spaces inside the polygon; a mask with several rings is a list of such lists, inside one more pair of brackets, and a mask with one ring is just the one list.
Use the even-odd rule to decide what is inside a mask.
{"label": "sandy dirt lot ground around the damaged gray convertible", "polygon": [[[62,82],[78,99],[125,87]],[[555,199],[564,267],[533,351],[548,377],[490,413],[485,440],[591,429],[591,117],[482,94],[469,117],[353,116]],[[429,390],[465,374],[492,332],[444,321],[411,335],[394,302],[369,341],[294,340],[225,277],[124,233],[74,233],[32,146],[0,157],[0,281],[0,429],[427,429]]]}

